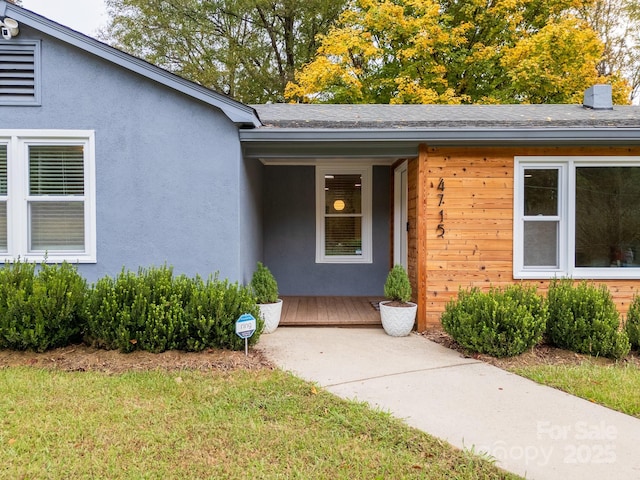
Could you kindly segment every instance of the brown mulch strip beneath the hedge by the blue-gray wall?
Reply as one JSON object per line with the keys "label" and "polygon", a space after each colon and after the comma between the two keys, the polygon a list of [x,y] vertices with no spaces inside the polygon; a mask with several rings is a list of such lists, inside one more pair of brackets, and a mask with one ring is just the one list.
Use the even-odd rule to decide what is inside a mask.
{"label": "brown mulch strip beneath the hedge by the blue-gray wall", "polygon": [[205,350],[197,353],[178,351],[120,353],[117,350],[100,350],[85,345],[57,348],[44,353],[0,350],[0,368],[15,366],[51,368],[67,372],[99,371],[111,374],[144,370],[230,371],[274,368],[262,352],[257,350],[250,350],[247,356],[244,351],[231,350]]}

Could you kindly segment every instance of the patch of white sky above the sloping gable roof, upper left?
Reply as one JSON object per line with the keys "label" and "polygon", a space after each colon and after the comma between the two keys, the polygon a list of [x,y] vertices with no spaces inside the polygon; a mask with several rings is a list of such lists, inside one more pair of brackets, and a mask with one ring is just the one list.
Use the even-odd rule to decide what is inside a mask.
{"label": "patch of white sky above the sloping gable roof, upper left", "polygon": [[22,0],[22,6],[92,37],[107,24],[104,0]]}

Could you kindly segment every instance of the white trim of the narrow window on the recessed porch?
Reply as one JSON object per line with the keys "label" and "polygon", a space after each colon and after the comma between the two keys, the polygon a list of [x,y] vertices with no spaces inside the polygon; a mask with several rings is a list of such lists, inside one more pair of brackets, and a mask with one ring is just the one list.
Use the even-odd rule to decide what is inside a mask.
{"label": "white trim of the narrow window on the recessed porch", "polygon": [[[325,255],[325,175],[362,175],[362,255]],[[373,263],[371,165],[316,165],[316,263]]]}

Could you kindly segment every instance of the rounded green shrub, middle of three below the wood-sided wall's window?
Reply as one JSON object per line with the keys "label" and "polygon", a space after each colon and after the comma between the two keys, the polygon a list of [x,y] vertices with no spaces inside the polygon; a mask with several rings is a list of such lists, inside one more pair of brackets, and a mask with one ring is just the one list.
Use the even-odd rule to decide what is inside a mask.
{"label": "rounded green shrub, middle of three below the wood-sided wall's window", "polygon": [[620,330],[620,314],[606,285],[554,279],[547,297],[550,344],[611,358],[622,358],[629,353],[629,339]]}

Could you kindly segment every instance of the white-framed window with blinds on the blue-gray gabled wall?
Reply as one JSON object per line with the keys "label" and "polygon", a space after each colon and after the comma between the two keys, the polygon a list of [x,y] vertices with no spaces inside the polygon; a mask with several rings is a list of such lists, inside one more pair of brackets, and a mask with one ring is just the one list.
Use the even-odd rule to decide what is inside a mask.
{"label": "white-framed window with blinds on the blue-gray gabled wall", "polygon": [[94,135],[0,131],[0,257],[95,262]]}

